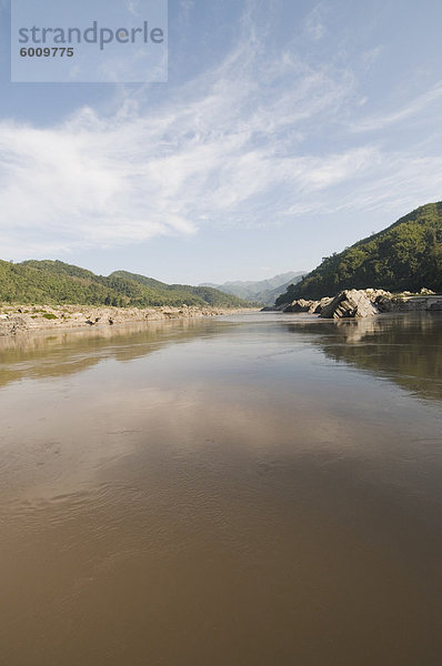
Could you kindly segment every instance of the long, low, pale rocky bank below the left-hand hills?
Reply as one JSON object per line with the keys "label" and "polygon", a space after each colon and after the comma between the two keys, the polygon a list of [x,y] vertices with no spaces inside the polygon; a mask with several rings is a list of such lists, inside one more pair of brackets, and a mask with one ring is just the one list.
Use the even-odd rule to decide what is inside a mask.
{"label": "long, low, pale rocky bank below the left-hand hills", "polygon": [[0,336],[17,335],[42,329],[70,330],[88,326],[108,327],[134,322],[199,319],[234,314],[242,310],[217,307],[100,307],[87,305],[0,305]]}

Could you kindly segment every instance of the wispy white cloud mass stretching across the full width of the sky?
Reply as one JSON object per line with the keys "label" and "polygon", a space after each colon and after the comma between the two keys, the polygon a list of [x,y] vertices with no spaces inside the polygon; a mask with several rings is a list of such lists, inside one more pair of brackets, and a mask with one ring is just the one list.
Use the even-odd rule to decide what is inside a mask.
{"label": "wispy white cloud mass stretching across the full width of the sky", "polygon": [[[412,147],[386,152],[365,132],[418,113],[442,87],[392,114],[350,121],[351,111],[360,113],[350,68],[268,51],[251,12],[243,30],[220,64],[170,88],[165,101],[128,95],[112,115],[83,108],[49,129],[0,122],[2,254],[54,255],[203,225],[262,226],[434,199],[441,158]],[[340,148],[320,139],[333,132]]]}

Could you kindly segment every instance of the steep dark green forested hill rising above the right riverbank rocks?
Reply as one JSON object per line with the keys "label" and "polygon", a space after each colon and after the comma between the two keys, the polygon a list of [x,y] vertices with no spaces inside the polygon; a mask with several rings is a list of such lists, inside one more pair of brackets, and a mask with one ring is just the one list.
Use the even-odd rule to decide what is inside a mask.
{"label": "steep dark green forested hill rising above the right riverbank rocks", "polygon": [[442,202],[429,203],[322,263],[277,299],[332,296],[343,289],[442,291]]}

